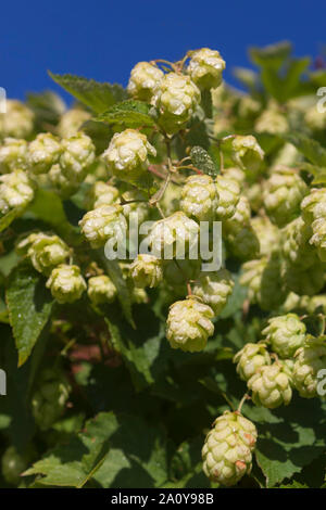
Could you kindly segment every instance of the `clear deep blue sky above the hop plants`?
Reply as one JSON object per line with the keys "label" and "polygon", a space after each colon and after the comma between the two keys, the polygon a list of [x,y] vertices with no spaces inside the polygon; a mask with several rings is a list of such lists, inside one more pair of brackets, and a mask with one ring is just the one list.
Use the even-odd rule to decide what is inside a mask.
{"label": "clear deep blue sky above the hop plants", "polygon": [[0,87],[20,99],[26,91],[59,90],[47,69],[126,85],[138,61],[177,60],[201,47],[221,51],[233,81],[231,68],[248,65],[249,46],[288,39],[296,55],[316,56],[325,25],[322,1],[7,1]]}

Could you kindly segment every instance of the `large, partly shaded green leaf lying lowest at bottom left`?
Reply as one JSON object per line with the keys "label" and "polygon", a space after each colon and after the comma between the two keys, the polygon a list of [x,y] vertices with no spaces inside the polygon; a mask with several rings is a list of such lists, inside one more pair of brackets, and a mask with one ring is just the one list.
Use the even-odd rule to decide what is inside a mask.
{"label": "large, partly shaded green leaf lying lowest at bottom left", "polygon": [[25,474],[51,486],[154,487],[167,479],[164,439],[138,418],[102,412]]}

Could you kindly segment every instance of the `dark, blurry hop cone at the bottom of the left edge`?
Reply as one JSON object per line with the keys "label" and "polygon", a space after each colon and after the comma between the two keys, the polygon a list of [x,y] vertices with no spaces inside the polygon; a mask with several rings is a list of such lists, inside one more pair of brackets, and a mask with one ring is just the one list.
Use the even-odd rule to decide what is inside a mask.
{"label": "dark, blurry hop cone at the bottom of the left edge", "polygon": [[1,458],[2,476],[7,483],[18,485],[22,481],[21,474],[28,468],[35,457],[35,450],[32,445],[20,452],[14,446],[5,449]]}

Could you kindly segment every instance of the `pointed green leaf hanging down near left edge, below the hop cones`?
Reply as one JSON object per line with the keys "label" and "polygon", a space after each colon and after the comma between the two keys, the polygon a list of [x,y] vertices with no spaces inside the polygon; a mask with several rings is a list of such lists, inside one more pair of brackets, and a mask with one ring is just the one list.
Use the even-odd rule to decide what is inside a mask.
{"label": "pointed green leaf hanging down near left edge, below the hop cones", "polygon": [[26,262],[10,275],[5,299],[22,366],[50,319],[54,301],[43,278]]}

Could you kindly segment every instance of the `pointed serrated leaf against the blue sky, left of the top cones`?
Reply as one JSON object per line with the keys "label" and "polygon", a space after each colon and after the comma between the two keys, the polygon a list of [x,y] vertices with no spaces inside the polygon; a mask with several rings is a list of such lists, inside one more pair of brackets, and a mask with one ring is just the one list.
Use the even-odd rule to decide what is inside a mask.
{"label": "pointed serrated leaf against the blue sky, left of the top cones", "polygon": [[96,113],[102,113],[116,102],[127,99],[127,92],[117,84],[99,82],[74,75],[59,75],[49,71],[51,78]]}

